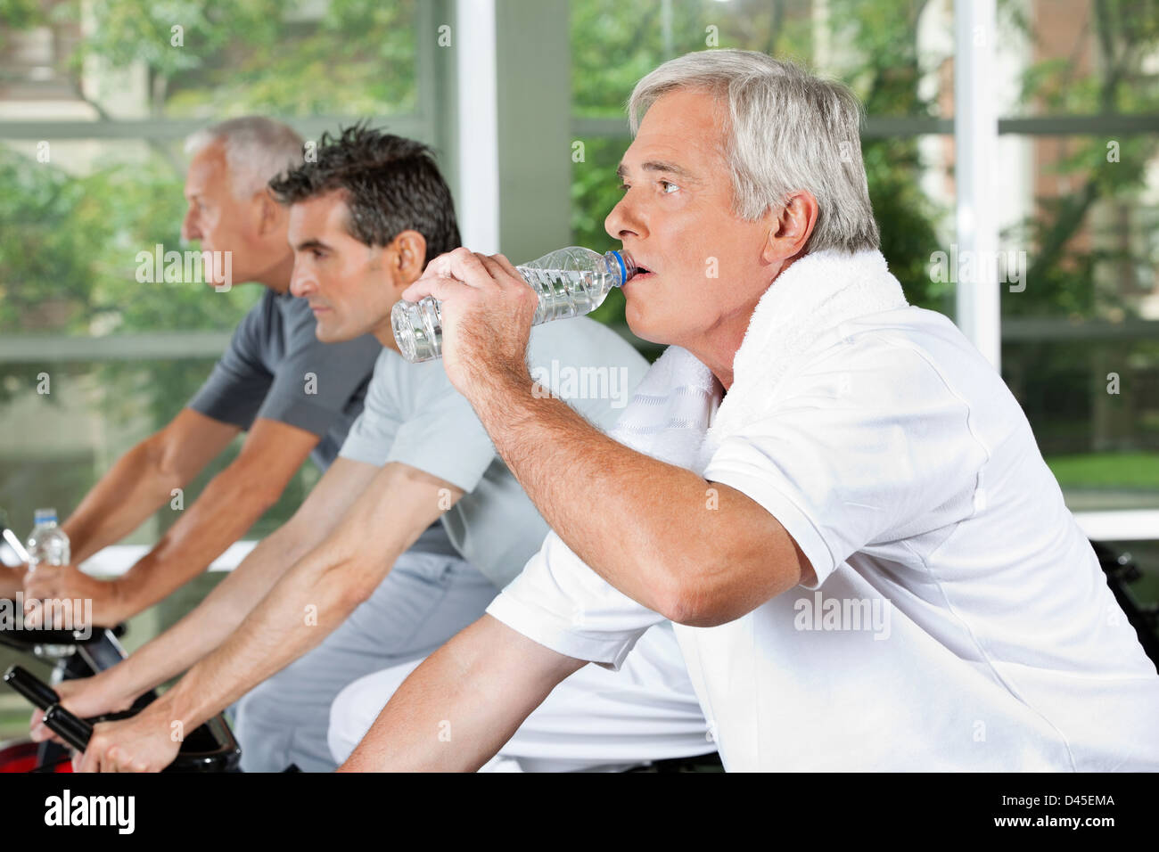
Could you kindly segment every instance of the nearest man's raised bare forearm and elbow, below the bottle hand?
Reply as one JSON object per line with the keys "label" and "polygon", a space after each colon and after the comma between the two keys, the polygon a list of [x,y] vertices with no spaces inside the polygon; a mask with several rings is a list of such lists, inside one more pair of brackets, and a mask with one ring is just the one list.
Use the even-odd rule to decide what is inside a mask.
{"label": "nearest man's raised bare forearm and elbow, below the bottle hand", "polygon": [[472,405],[503,460],[560,538],[633,600],[709,627],[815,576],[743,493],[613,440],[513,371],[490,383]]}

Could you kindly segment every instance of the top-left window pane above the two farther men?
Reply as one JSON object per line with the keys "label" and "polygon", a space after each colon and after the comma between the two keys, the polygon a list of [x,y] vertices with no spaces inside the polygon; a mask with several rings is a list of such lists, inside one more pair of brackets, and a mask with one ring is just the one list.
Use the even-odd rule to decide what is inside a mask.
{"label": "top-left window pane above the two farther men", "polygon": [[415,0],[46,3],[0,41],[0,109],[80,121],[414,112],[416,27]]}

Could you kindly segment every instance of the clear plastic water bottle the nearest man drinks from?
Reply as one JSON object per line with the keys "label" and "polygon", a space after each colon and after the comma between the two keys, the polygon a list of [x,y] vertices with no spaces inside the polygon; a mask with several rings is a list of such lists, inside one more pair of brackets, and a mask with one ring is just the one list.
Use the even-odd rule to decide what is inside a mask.
{"label": "clear plastic water bottle the nearest man drinks from", "polygon": [[[534,326],[591,313],[604,304],[612,287],[624,286],[636,271],[627,252],[599,254],[578,246],[557,249],[516,269],[539,293]],[[411,364],[442,357],[443,314],[433,296],[396,303],[391,327],[399,351]]]}

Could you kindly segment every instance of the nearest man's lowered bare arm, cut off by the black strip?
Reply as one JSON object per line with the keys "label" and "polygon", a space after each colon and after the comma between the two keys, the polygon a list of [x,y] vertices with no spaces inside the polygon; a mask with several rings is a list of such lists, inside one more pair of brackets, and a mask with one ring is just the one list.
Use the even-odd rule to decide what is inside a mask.
{"label": "nearest man's lowered bare arm, cut off by the black strip", "polygon": [[483,616],[415,669],[340,772],[471,772],[585,661]]}

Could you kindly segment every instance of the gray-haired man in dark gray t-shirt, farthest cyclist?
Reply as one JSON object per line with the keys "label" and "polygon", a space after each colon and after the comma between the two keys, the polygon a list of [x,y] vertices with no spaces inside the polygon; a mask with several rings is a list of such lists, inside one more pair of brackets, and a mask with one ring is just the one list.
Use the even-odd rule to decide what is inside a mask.
{"label": "gray-haired man in dark gray t-shirt, farthest cyclist", "polygon": [[[292,128],[258,116],[192,134],[183,239],[199,240],[205,283],[265,287],[205,384],[166,427],[122,456],[65,520],[72,566],[27,575],[27,598],[92,598],[112,626],[197,576],[282,495],[307,457],[325,471],[362,413],[381,347],[370,335],[326,344],[309,306],[290,293],[289,212],[269,180],[302,162]],[[205,298],[213,298],[206,287]],[[101,581],[75,566],[115,544],[248,431],[238,457],[185,507],[124,576]]]}

